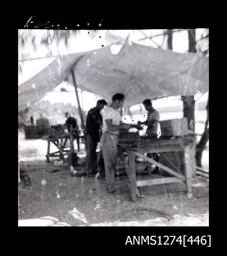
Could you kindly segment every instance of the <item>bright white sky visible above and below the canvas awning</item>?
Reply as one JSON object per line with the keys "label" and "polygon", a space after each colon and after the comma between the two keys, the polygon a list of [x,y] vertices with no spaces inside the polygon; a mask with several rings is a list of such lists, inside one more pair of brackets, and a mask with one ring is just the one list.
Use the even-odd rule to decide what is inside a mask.
{"label": "bright white sky visible above and below the canvas awning", "polygon": [[[206,31],[206,29],[196,29],[196,40],[198,40],[202,33]],[[40,37],[46,33],[44,30],[33,30],[32,31],[36,36],[37,41],[40,41]],[[52,31],[51,31],[52,32]],[[89,34],[88,34],[89,32]],[[121,38],[125,39],[129,35],[129,40],[140,43],[146,46],[157,47],[156,44],[162,45],[163,42],[163,49],[167,49],[167,36],[163,41],[163,36],[157,36],[153,38],[153,41],[150,39],[138,41],[138,39],[144,38],[145,35],[153,36],[163,33],[163,30],[110,30],[109,32],[105,30],[97,31],[96,33],[92,33],[92,31],[88,30],[81,30],[79,31],[78,35],[72,36],[69,43],[69,48],[64,46],[64,42],[58,44],[58,48],[56,42],[52,44],[51,51],[52,54],[58,55],[58,51],[61,55],[76,53],[76,52],[83,52],[83,51],[90,51],[94,49],[101,48],[102,45],[106,46],[109,44],[114,44],[121,40]],[[31,43],[26,46],[30,51],[30,57],[40,57],[45,56],[46,48],[42,45],[37,46],[36,51],[32,50]],[[204,47],[204,46],[203,46]],[[204,50],[206,50],[204,47]],[[187,31],[180,31],[173,33],[173,51],[177,52],[186,52],[188,51],[188,32]],[[54,58],[44,58],[39,60],[30,60],[23,62],[23,74],[18,75],[18,83],[19,85],[26,80],[33,77],[36,73],[40,72],[44,67],[48,66],[50,62],[52,62]],[[65,87],[67,91],[71,92],[60,92],[60,88]],[[198,94],[197,97],[200,97]],[[96,96],[89,92],[83,92],[83,97],[81,92],[79,92],[80,103],[83,106],[84,110],[88,111],[90,108],[93,108],[96,105],[96,102],[101,97]],[[54,89],[54,92],[49,92],[44,98],[44,100],[49,100],[50,102],[64,102],[64,103],[72,103],[73,105],[77,106],[74,87],[63,83]],[[207,94],[200,98],[199,101],[207,100]],[[166,106],[173,106],[182,104],[179,100],[176,100],[175,97],[168,97],[153,101],[154,107],[161,107],[163,106],[163,102]],[[131,107],[133,110],[134,108],[138,108],[137,106]]]}

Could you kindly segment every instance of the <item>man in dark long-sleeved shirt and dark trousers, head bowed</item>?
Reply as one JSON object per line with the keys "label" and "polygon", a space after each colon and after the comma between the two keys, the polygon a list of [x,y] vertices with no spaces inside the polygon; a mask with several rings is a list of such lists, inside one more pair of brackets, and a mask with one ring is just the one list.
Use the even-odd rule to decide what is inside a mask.
{"label": "man in dark long-sleeved shirt and dark trousers, head bowed", "polygon": [[86,133],[86,149],[87,149],[87,170],[88,177],[97,173],[96,148],[100,141],[101,125],[103,124],[100,110],[107,105],[105,100],[99,100],[96,107],[91,108],[87,115],[85,133]]}

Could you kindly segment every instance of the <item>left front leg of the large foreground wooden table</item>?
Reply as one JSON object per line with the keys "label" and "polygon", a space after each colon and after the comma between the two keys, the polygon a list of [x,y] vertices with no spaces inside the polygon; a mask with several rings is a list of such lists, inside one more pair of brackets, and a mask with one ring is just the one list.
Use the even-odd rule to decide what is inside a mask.
{"label": "left front leg of the large foreground wooden table", "polygon": [[129,164],[129,181],[131,189],[131,198],[135,202],[137,200],[137,187],[136,187],[136,168],[135,168],[135,155],[133,152],[128,151],[128,164]]}

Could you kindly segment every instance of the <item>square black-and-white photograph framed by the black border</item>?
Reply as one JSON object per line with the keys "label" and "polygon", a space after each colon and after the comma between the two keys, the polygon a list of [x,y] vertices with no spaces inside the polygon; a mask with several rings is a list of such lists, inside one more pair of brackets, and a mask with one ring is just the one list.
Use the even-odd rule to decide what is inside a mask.
{"label": "square black-and-white photograph framed by the black border", "polygon": [[18,226],[208,227],[209,28],[34,19],[18,29]]}

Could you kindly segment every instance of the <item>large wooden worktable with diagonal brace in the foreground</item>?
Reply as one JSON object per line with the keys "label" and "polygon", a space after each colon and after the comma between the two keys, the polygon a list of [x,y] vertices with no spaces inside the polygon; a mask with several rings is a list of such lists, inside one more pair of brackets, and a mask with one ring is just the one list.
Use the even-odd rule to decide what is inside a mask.
{"label": "large wooden worktable with diagonal brace in the foreground", "polygon": [[[131,198],[134,201],[137,200],[139,196],[139,191],[137,187],[148,186],[154,184],[165,184],[171,182],[181,182],[186,184],[186,189],[188,193],[192,193],[192,161],[194,161],[194,156],[192,148],[195,146],[194,136],[184,136],[178,138],[148,138],[147,136],[138,136],[138,138],[119,138],[118,148],[119,152],[126,169],[128,179],[129,179],[129,189],[131,190]],[[184,174],[180,171],[164,166],[156,162],[155,160],[148,158],[145,154],[149,153],[163,153],[171,151],[182,151],[184,152]],[[128,162],[125,158],[125,151],[128,154]],[[148,161],[151,164],[158,166],[160,169],[167,171],[172,174],[173,177],[151,178],[144,180],[136,179],[136,169],[135,169],[135,156]],[[174,165],[174,164],[173,164]],[[175,168],[176,169],[176,168]]]}

